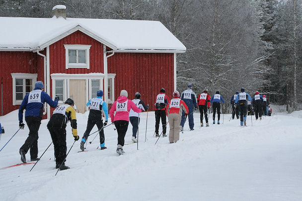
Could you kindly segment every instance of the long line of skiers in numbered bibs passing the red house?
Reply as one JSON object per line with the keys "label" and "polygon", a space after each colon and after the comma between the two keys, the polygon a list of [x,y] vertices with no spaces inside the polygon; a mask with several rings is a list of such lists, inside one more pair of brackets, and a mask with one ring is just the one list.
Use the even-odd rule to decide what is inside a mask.
{"label": "long line of skiers in numbered bibs passing the red house", "polygon": [[[42,81],[37,81],[35,83],[35,88],[30,93],[26,94],[21,106],[19,108],[19,128],[24,129],[23,123],[23,110],[25,109],[25,121],[29,128],[29,134],[24,144],[20,147],[19,153],[21,155],[21,161],[26,163],[25,154],[30,149],[30,160],[37,161],[38,158],[38,130],[40,128],[44,103],[48,103],[52,108],[56,108],[50,118],[47,128],[51,134],[52,142],[54,144],[54,152],[56,158],[56,168],[60,170],[68,169],[69,167],[65,165],[66,161],[66,125],[71,122],[72,134],[75,141],[79,139],[77,134],[77,123],[75,116],[75,103],[74,100],[68,98],[65,103],[59,107],[58,101],[59,96],[55,97],[53,101],[51,97],[43,91],[44,85]],[[215,115],[218,114],[217,124],[220,124],[220,109],[221,102],[225,103],[225,100],[220,95],[219,91],[210,97],[208,89],[205,89],[203,93],[196,97],[196,94],[192,91],[192,84],[187,85],[187,89],[182,92],[181,96],[178,91],[173,92],[173,98],[169,100],[168,96],[165,94],[165,89],[161,88],[160,93],[156,96],[155,100],[155,136],[159,136],[159,122],[161,119],[162,124],[162,136],[166,135],[166,117],[168,117],[168,122],[170,126],[169,132],[169,142],[174,143],[179,140],[179,131],[183,131],[186,118],[188,117],[190,130],[194,130],[194,110],[199,109],[200,111],[200,125],[203,126],[203,119],[206,120],[206,126],[209,127],[208,122],[208,110],[210,104],[213,107],[213,124],[215,124]],[[84,132],[81,142],[80,149],[84,151],[84,144],[94,127],[98,128],[98,133],[100,136],[100,149],[106,149],[105,146],[105,135],[104,127],[108,124],[108,107],[107,103],[102,99],[103,91],[98,90],[96,98],[92,98],[88,101],[86,106],[89,106],[89,116],[87,120],[86,131]],[[261,107],[266,101],[259,95],[258,92],[255,93],[253,97],[252,104],[255,109],[256,119],[258,116],[261,119]],[[231,99],[233,106],[232,118],[234,119],[234,111],[236,111],[237,119],[239,118],[240,111],[240,125],[246,124],[246,113],[247,113],[247,100],[251,101],[251,97],[248,93],[244,92],[244,88],[241,88],[241,93],[236,92]],[[265,101],[264,101],[265,100]],[[261,103],[261,106],[260,106]],[[239,110],[237,109],[239,106]],[[141,94],[136,92],[135,99],[128,99],[128,92],[122,90],[120,96],[112,104],[109,111],[112,124],[115,126],[118,134],[118,143],[116,152],[121,155],[124,152],[123,146],[125,144],[125,135],[128,129],[129,121],[133,126],[132,130],[132,141],[137,142],[137,131],[140,123],[140,113],[142,111],[147,111],[149,105],[146,105],[141,100]],[[105,122],[103,123],[102,111],[105,116]],[[237,113],[238,111],[238,113]],[[271,109],[270,109],[271,111]],[[265,113],[266,114],[266,113]],[[1,127],[0,127],[1,128]]]}

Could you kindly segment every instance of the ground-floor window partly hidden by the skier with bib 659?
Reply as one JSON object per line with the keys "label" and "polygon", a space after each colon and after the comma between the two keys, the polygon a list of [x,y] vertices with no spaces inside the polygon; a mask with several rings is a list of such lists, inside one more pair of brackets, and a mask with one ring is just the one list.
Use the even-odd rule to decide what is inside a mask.
{"label": "ground-floor window partly hidden by the skier with bib 659", "polygon": [[34,89],[34,83],[37,81],[37,74],[31,73],[11,73],[13,105],[20,105],[26,94]]}

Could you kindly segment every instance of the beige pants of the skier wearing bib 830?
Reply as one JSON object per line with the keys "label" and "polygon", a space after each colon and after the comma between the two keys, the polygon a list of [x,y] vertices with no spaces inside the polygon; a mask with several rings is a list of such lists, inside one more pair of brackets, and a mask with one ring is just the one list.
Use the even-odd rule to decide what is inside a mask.
{"label": "beige pants of the skier wearing bib 830", "polygon": [[170,132],[169,141],[177,142],[179,140],[179,125],[181,121],[181,115],[179,114],[169,114],[168,115]]}

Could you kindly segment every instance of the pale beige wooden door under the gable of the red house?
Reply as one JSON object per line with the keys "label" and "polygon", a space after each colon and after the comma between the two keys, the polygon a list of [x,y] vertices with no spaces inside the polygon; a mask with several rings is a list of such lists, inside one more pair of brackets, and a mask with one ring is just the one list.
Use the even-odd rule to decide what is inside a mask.
{"label": "pale beige wooden door under the gable of the red house", "polygon": [[70,80],[70,97],[74,99],[76,112],[86,112],[86,80],[71,79]]}

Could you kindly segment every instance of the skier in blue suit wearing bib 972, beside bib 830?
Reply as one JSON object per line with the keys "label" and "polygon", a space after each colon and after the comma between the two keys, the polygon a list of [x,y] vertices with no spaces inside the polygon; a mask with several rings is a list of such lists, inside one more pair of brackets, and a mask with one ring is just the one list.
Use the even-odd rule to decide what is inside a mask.
{"label": "skier in blue suit wearing bib 972, beside bib 830", "polygon": [[[183,100],[189,108],[189,115],[188,115],[189,127],[190,127],[190,131],[194,131],[193,111],[194,111],[194,108],[196,108],[196,110],[197,110],[197,101],[196,101],[196,94],[194,91],[192,91],[191,83],[188,83],[187,90],[182,92],[181,100]],[[185,115],[185,112],[182,111],[181,122],[180,122],[180,131],[183,131],[183,127],[184,127],[186,119],[187,119],[187,115]]]}

